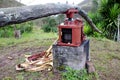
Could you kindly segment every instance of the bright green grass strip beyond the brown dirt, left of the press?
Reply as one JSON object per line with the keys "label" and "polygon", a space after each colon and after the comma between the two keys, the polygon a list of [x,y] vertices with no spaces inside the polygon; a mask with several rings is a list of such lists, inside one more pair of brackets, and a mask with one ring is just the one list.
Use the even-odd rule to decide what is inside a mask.
{"label": "bright green grass strip beyond the brown dirt, left of the press", "polygon": [[[24,33],[22,38],[1,38],[0,47],[14,46],[22,43],[32,42],[32,41],[42,41],[46,39],[57,38],[56,33],[45,33],[42,30],[34,30],[32,33]],[[48,43],[45,45],[49,45]]]}

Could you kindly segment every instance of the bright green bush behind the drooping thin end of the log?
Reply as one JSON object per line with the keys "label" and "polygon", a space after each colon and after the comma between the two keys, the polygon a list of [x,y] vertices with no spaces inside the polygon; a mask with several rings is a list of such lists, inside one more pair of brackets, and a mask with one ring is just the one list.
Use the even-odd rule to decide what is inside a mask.
{"label": "bright green bush behind the drooping thin end of the log", "polygon": [[98,29],[100,29],[103,33],[97,33],[95,32],[89,25],[88,23],[85,23],[84,27],[84,32],[87,36],[92,36],[92,37],[105,37],[105,31],[103,29],[104,22],[102,21],[102,17],[98,12],[92,13],[89,12],[88,16],[93,20],[93,23],[96,25]]}

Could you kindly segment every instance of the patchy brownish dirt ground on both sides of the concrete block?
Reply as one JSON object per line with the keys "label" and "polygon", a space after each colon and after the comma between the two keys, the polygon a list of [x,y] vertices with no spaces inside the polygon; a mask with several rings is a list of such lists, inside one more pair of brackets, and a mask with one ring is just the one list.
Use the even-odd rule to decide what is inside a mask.
{"label": "patchy brownish dirt ground on both sides of the concrete block", "polygon": [[[51,41],[47,40],[48,42]],[[54,39],[52,40],[54,41]],[[44,41],[46,42],[46,41]],[[29,46],[35,42],[25,42],[9,47],[0,47],[0,80],[60,80],[59,73],[17,72],[15,65],[24,62],[25,54],[40,53],[47,46]],[[42,42],[43,43],[43,42]],[[38,42],[39,44],[39,42]],[[120,80],[120,43],[104,39],[90,38],[91,61],[98,73],[98,80]],[[11,59],[9,59],[12,58]]]}

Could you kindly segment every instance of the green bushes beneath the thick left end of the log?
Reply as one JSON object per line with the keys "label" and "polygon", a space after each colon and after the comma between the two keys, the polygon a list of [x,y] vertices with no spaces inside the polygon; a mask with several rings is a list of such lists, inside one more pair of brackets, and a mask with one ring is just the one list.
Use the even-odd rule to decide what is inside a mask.
{"label": "green bushes beneath the thick left end of the log", "polygon": [[20,30],[21,34],[25,32],[31,32],[33,30],[33,23],[26,22],[22,24],[8,25],[5,27],[2,27],[0,28],[0,37],[3,37],[3,38],[13,37],[15,30]]}

